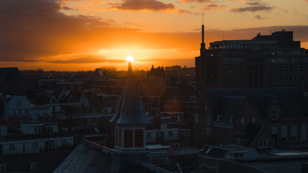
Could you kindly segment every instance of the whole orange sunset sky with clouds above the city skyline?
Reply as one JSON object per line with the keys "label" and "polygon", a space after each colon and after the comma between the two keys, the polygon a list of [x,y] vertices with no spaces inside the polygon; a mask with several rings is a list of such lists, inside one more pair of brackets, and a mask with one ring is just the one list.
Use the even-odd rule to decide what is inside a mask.
{"label": "whole orange sunset sky with clouds above the city skyline", "polygon": [[0,68],[88,71],[195,66],[210,42],[293,31],[308,49],[308,0],[0,0]]}

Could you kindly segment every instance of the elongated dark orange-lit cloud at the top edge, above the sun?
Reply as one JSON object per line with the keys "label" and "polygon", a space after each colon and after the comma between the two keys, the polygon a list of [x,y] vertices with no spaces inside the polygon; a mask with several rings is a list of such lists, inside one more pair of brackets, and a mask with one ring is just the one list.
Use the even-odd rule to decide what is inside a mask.
{"label": "elongated dark orange-lit cloud at the top edge, above the sun", "polygon": [[175,6],[173,3],[165,4],[156,0],[124,0],[120,5],[111,8],[128,11],[165,11],[174,10]]}

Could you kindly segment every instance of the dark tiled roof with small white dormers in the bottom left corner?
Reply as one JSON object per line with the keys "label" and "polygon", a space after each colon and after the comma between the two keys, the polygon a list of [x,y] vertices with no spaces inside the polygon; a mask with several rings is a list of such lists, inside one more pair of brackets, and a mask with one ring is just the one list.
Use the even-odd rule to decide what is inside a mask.
{"label": "dark tiled roof with small white dormers in the bottom left corner", "polygon": [[[65,155],[65,152],[40,152],[1,155],[0,163],[6,164],[6,172],[47,172]],[[36,171],[30,171],[29,162],[36,162]]]}

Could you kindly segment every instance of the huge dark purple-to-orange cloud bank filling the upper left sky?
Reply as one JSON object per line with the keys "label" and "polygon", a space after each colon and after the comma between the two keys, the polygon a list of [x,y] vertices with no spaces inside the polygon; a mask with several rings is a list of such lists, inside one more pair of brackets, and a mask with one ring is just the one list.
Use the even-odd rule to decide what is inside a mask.
{"label": "huge dark purple-to-orange cloud bank filling the upper left sky", "polygon": [[[120,29],[111,19],[67,16],[50,0],[2,0],[0,5],[0,61],[39,61],[38,57],[96,52],[111,48],[111,37],[137,29]],[[63,6],[62,6],[63,7]]]}

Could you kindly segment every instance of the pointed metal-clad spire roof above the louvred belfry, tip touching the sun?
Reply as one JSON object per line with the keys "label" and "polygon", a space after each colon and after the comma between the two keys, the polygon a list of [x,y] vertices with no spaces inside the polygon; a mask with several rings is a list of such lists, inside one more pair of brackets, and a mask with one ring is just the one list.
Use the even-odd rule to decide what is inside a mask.
{"label": "pointed metal-clad spire roof above the louvred belfry, tip touching the sun", "polygon": [[144,105],[138,95],[132,73],[132,63],[128,62],[127,80],[124,91],[110,120],[114,124],[148,125],[151,122],[145,116]]}

